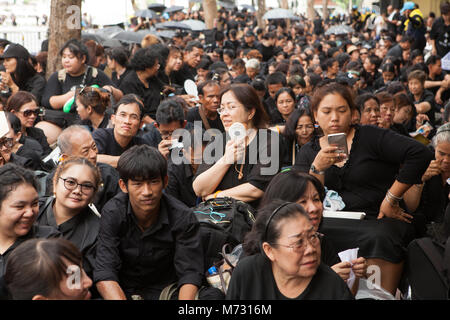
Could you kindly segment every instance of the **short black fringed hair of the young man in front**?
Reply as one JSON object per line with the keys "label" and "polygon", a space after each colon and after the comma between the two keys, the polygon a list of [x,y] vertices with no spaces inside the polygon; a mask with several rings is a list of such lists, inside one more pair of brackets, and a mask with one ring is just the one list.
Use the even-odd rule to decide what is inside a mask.
{"label": "short black fringed hair of the young man in front", "polygon": [[167,176],[167,161],[158,151],[146,144],[136,145],[122,153],[117,163],[120,179],[142,181]]}

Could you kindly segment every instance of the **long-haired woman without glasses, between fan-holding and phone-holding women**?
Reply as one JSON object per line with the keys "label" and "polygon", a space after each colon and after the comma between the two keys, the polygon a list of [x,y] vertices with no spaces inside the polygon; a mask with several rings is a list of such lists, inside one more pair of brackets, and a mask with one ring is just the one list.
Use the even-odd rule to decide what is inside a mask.
{"label": "long-haired woman without glasses, between fan-holding and phone-holding women", "polygon": [[[284,124],[296,108],[296,99],[294,91],[291,88],[281,88],[275,95],[277,108],[271,110],[271,125],[277,127],[281,133],[284,130]],[[278,126],[277,126],[278,125]]]}

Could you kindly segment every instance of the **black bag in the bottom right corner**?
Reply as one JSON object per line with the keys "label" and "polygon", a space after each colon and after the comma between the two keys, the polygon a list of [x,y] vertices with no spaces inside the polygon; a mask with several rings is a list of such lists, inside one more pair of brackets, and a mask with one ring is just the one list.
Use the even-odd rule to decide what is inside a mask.
{"label": "black bag in the bottom right corner", "polygon": [[413,300],[450,298],[450,237],[441,244],[420,238],[408,246],[406,278]]}

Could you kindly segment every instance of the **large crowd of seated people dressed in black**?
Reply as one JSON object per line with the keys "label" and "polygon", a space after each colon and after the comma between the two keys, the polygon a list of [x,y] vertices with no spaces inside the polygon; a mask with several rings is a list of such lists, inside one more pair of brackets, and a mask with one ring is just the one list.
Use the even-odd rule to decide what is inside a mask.
{"label": "large crowd of seated people dressed in black", "polygon": [[[449,2],[440,14],[262,29],[222,8],[168,41],[71,39],[48,78],[45,43],[0,40],[0,297],[347,300],[376,267],[406,298],[410,243],[450,236]],[[324,217],[331,194],[365,218]],[[193,210],[224,197],[256,212],[228,290],[206,280]]]}

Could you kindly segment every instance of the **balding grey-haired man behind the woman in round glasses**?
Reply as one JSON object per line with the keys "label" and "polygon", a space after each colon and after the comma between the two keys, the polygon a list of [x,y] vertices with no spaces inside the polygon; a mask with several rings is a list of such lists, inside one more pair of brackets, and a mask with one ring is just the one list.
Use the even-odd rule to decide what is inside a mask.
{"label": "balding grey-haired man behind the woman in round glasses", "polygon": [[[61,149],[62,159],[69,157],[84,157],[90,160],[100,170],[102,186],[97,191],[94,205],[101,210],[106,202],[119,191],[119,173],[106,163],[97,162],[97,146],[92,139],[89,129],[79,125],[72,125],[61,132],[57,145]],[[55,171],[47,176],[45,195],[53,194],[53,176]]]}

